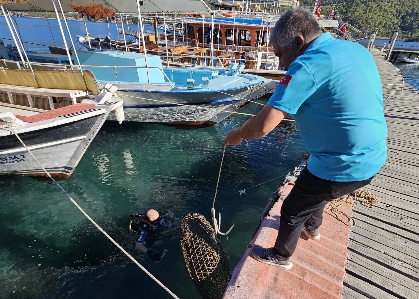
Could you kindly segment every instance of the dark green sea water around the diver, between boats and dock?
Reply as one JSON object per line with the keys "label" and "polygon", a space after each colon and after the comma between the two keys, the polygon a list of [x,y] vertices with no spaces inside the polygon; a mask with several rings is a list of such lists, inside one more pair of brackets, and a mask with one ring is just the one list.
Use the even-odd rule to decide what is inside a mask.
{"label": "dark green sea water around the diver, between boats and dock", "polygon": [[[262,98],[261,102],[266,101]],[[243,112],[256,113],[251,104]],[[179,223],[186,214],[210,217],[226,132],[246,120],[233,115],[212,128],[106,124],[62,187],[106,232],[180,298],[199,298],[182,257]],[[266,201],[305,152],[295,123],[267,137],[228,147],[215,208],[233,270],[251,240]],[[54,158],[54,157],[52,157]],[[154,281],[104,237],[52,183],[26,177],[0,181],[0,297],[168,298]],[[160,262],[137,253],[128,217],[157,209],[163,233]]]}

